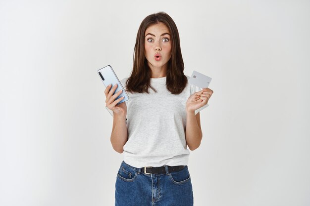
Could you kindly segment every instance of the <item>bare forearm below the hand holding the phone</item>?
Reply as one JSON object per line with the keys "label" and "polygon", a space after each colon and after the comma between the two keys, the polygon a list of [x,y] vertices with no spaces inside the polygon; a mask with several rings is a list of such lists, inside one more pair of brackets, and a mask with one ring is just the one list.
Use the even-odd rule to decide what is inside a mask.
{"label": "bare forearm below the hand holding the phone", "polygon": [[122,153],[124,151],[123,147],[127,140],[128,132],[126,126],[126,116],[119,115],[114,112],[112,133],[110,138],[113,149],[118,153]]}

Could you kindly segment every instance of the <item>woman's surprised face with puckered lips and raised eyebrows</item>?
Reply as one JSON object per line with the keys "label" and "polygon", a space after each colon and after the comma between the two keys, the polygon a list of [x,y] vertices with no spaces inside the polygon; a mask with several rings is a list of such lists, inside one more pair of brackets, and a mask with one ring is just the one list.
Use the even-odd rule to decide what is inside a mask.
{"label": "woman's surprised face with puckered lips and raised eyebrows", "polygon": [[163,23],[149,26],[145,31],[145,57],[153,70],[167,69],[171,57],[171,39],[168,27]]}

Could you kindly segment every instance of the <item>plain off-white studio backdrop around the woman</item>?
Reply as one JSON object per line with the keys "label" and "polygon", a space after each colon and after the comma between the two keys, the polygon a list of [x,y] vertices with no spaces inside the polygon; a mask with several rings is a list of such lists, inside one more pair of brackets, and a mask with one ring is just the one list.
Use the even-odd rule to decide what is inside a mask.
{"label": "plain off-white studio backdrop around the woman", "polygon": [[112,206],[123,155],[97,70],[129,77],[138,27],[175,21],[212,78],[195,206],[310,205],[309,0],[1,0],[0,205]]}

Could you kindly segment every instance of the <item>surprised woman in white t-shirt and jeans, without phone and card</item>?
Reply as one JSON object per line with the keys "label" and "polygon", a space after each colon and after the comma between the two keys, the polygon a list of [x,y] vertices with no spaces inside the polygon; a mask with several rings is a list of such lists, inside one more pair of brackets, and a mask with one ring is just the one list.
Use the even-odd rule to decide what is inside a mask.
{"label": "surprised woman in white t-shirt and jeans, without phone and card", "polygon": [[[129,100],[108,86],[106,108],[112,111],[111,144],[124,154],[115,183],[115,206],[193,206],[189,150],[202,139],[199,112],[213,91],[188,82],[183,74],[180,40],[164,12],[141,23],[133,70],[121,80]],[[151,88],[151,89],[149,89]]]}

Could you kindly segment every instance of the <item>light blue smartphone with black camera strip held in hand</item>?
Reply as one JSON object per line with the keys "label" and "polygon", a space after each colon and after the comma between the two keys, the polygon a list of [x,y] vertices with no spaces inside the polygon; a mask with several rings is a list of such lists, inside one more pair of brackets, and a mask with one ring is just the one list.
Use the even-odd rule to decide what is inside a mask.
{"label": "light blue smartphone with black camera strip held in hand", "polygon": [[[112,84],[111,88],[117,84],[117,88],[115,89],[114,93],[117,93],[119,90],[122,89],[122,93],[120,93],[118,95],[118,97],[116,97],[116,99],[119,99],[120,97],[124,96],[124,99],[122,99],[120,102],[118,102],[117,104],[120,104],[122,102],[125,102],[129,99],[128,94],[126,93],[123,85],[121,84],[121,82],[118,80],[114,70],[112,69],[112,67],[110,65],[107,65],[101,69],[99,69],[98,71],[98,75],[100,76],[103,84],[105,87],[107,87],[109,84]],[[115,100],[116,100],[115,99]],[[115,101],[114,100],[114,101]]]}

